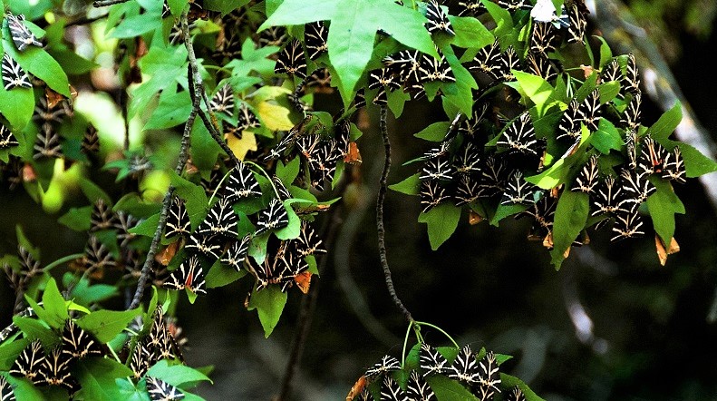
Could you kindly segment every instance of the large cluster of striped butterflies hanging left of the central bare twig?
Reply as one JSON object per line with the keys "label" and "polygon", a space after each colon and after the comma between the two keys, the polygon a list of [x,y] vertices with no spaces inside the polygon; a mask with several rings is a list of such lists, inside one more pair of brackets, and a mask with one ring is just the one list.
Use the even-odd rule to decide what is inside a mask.
{"label": "large cluster of striped butterflies hanging left of the central bare twig", "polygon": [[206,274],[199,255],[212,260],[220,259],[237,271],[247,269],[257,279],[257,290],[275,284],[286,291],[295,282],[302,282],[299,277],[308,270],[305,256],[325,252],[320,248],[321,240],[308,221],[302,220],[300,235],[296,240],[281,240],[276,249],[269,249],[263,263],[257,264],[253,258],[247,258],[247,250],[254,237],[280,230],[289,223],[284,201],[292,197],[291,193],[276,176],[272,183],[278,197],[269,201],[266,209],[259,212],[257,230],[247,233],[241,239],[237,239],[239,218],[232,204],[262,195],[257,179],[246,164],[240,163],[229,173],[221,198],[193,232],[190,232],[191,225],[184,201],[175,197],[170,207],[165,237],[170,239],[181,236],[186,239],[184,249],[189,250],[190,255],[181,262],[178,269],[171,272],[170,277],[164,281],[164,287],[206,293]]}

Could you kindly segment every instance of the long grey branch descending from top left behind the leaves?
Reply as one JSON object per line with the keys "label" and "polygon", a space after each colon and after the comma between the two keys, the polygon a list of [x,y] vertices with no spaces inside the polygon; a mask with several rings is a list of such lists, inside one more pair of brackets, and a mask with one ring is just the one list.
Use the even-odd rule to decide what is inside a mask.
{"label": "long grey branch descending from top left behind the leaves", "polygon": [[[181,30],[182,30],[182,36],[184,38],[184,44],[187,46],[188,54],[189,54],[189,67],[188,67],[188,73],[189,76],[191,76],[194,72],[198,70],[197,68],[197,58],[194,55],[194,50],[192,49],[192,45],[189,38],[189,24],[187,23],[187,13],[182,13],[182,15],[179,18],[179,22],[181,24]],[[189,134],[191,133],[191,127],[194,125],[194,120],[197,118],[197,114],[201,113],[200,110],[200,98],[197,96],[197,93],[195,91],[195,82],[192,80],[188,80],[189,82],[189,97],[192,100],[192,109],[191,112],[189,112],[189,118],[187,119],[187,122],[184,125],[184,132],[182,133],[182,141],[181,141],[181,148],[179,149],[179,161],[177,161],[177,166],[174,168],[174,172],[177,174],[180,174],[181,171],[184,170],[184,166],[187,164],[187,160],[189,159]],[[154,230],[154,236],[152,237],[152,242],[150,244],[150,250],[147,252],[147,259],[144,260],[144,265],[142,266],[142,270],[140,273],[140,279],[137,281],[137,289],[134,291],[134,297],[132,298],[132,302],[128,309],[137,308],[140,305],[140,300],[142,298],[142,294],[144,294],[144,287],[147,283],[147,278],[150,275],[150,269],[152,267],[152,263],[154,262],[154,255],[157,253],[157,248],[160,245],[160,239],[162,236],[162,230],[164,230],[164,225],[167,222],[167,214],[170,210],[171,205],[171,199],[172,194],[174,193],[174,186],[170,185],[170,188],[167,190],[167,193],[164,195],[164,200],[162,200],[162,209],[160,211],[160,221],[157,224],[157,230]]]}

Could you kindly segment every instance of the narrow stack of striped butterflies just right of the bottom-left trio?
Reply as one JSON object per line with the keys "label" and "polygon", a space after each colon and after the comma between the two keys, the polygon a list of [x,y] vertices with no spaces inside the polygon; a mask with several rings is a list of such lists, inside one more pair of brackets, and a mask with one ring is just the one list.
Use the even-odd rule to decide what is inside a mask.
{"label": "narrow stack of striped butterflies just right of the bottom-left trio", "polygon": [[178,339],[170,330],[167,317],[164,316],[164,310],[160,305],[152,315],[149,333],[135,338],[127,364],[136,379],[145,376],[150,367],[162,359],[184,361]]}

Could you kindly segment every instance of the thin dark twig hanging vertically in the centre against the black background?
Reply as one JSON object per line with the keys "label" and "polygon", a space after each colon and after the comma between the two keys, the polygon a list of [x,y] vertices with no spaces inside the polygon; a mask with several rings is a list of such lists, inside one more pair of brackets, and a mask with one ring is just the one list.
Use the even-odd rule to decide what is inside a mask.
{"label": "thin dark twig hanging vertically in the centre against the black background", "polygon": [[396,307],[401,310],[403,317],[406,318],[409,324],[412,324],[413,318],[411,312],[403,306],[401,299],[396,295],[396,290],[393,289],[393,280],[391,279],[391,269],[388,266],[388,259],[386,258],[386,231],[383,229],[383,201],[386,198],[386,191],[388,189],[388,173],[391,170],[391,142],[388,138],[388,129],[386,127],[386,106],[381,106],[381,121],[379,127],[381,129],[381,136],[383,137],[383,148],[386,152],[386,158],[383,161],[383,172],[381,173],[381,185],[378,189],[378,199],[376,200],[376,232],[378,233],[378,252],[381,258],[381,266],[383,267],[383,276],[386,279],[386,288],[393,299],[393,303]]}

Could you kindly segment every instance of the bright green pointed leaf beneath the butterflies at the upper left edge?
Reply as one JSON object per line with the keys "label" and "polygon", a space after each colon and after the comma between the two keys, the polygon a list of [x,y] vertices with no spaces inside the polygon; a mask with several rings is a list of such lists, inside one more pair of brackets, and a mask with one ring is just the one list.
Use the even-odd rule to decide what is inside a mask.
{"label": "bright green pointed leaf beneath the butterflies at the upper left edge", "polygon": [[11,44],[8,38],[3,39],[3,46],[5,52],[10,54],[25,72],[32,73],[35,77],[43,80],[54,92],[70,97],[70,83],[67,81],[67,74],[52,55],[36,46],[29,46],[24,52],[18,52],[15,49],[15,44]]}

